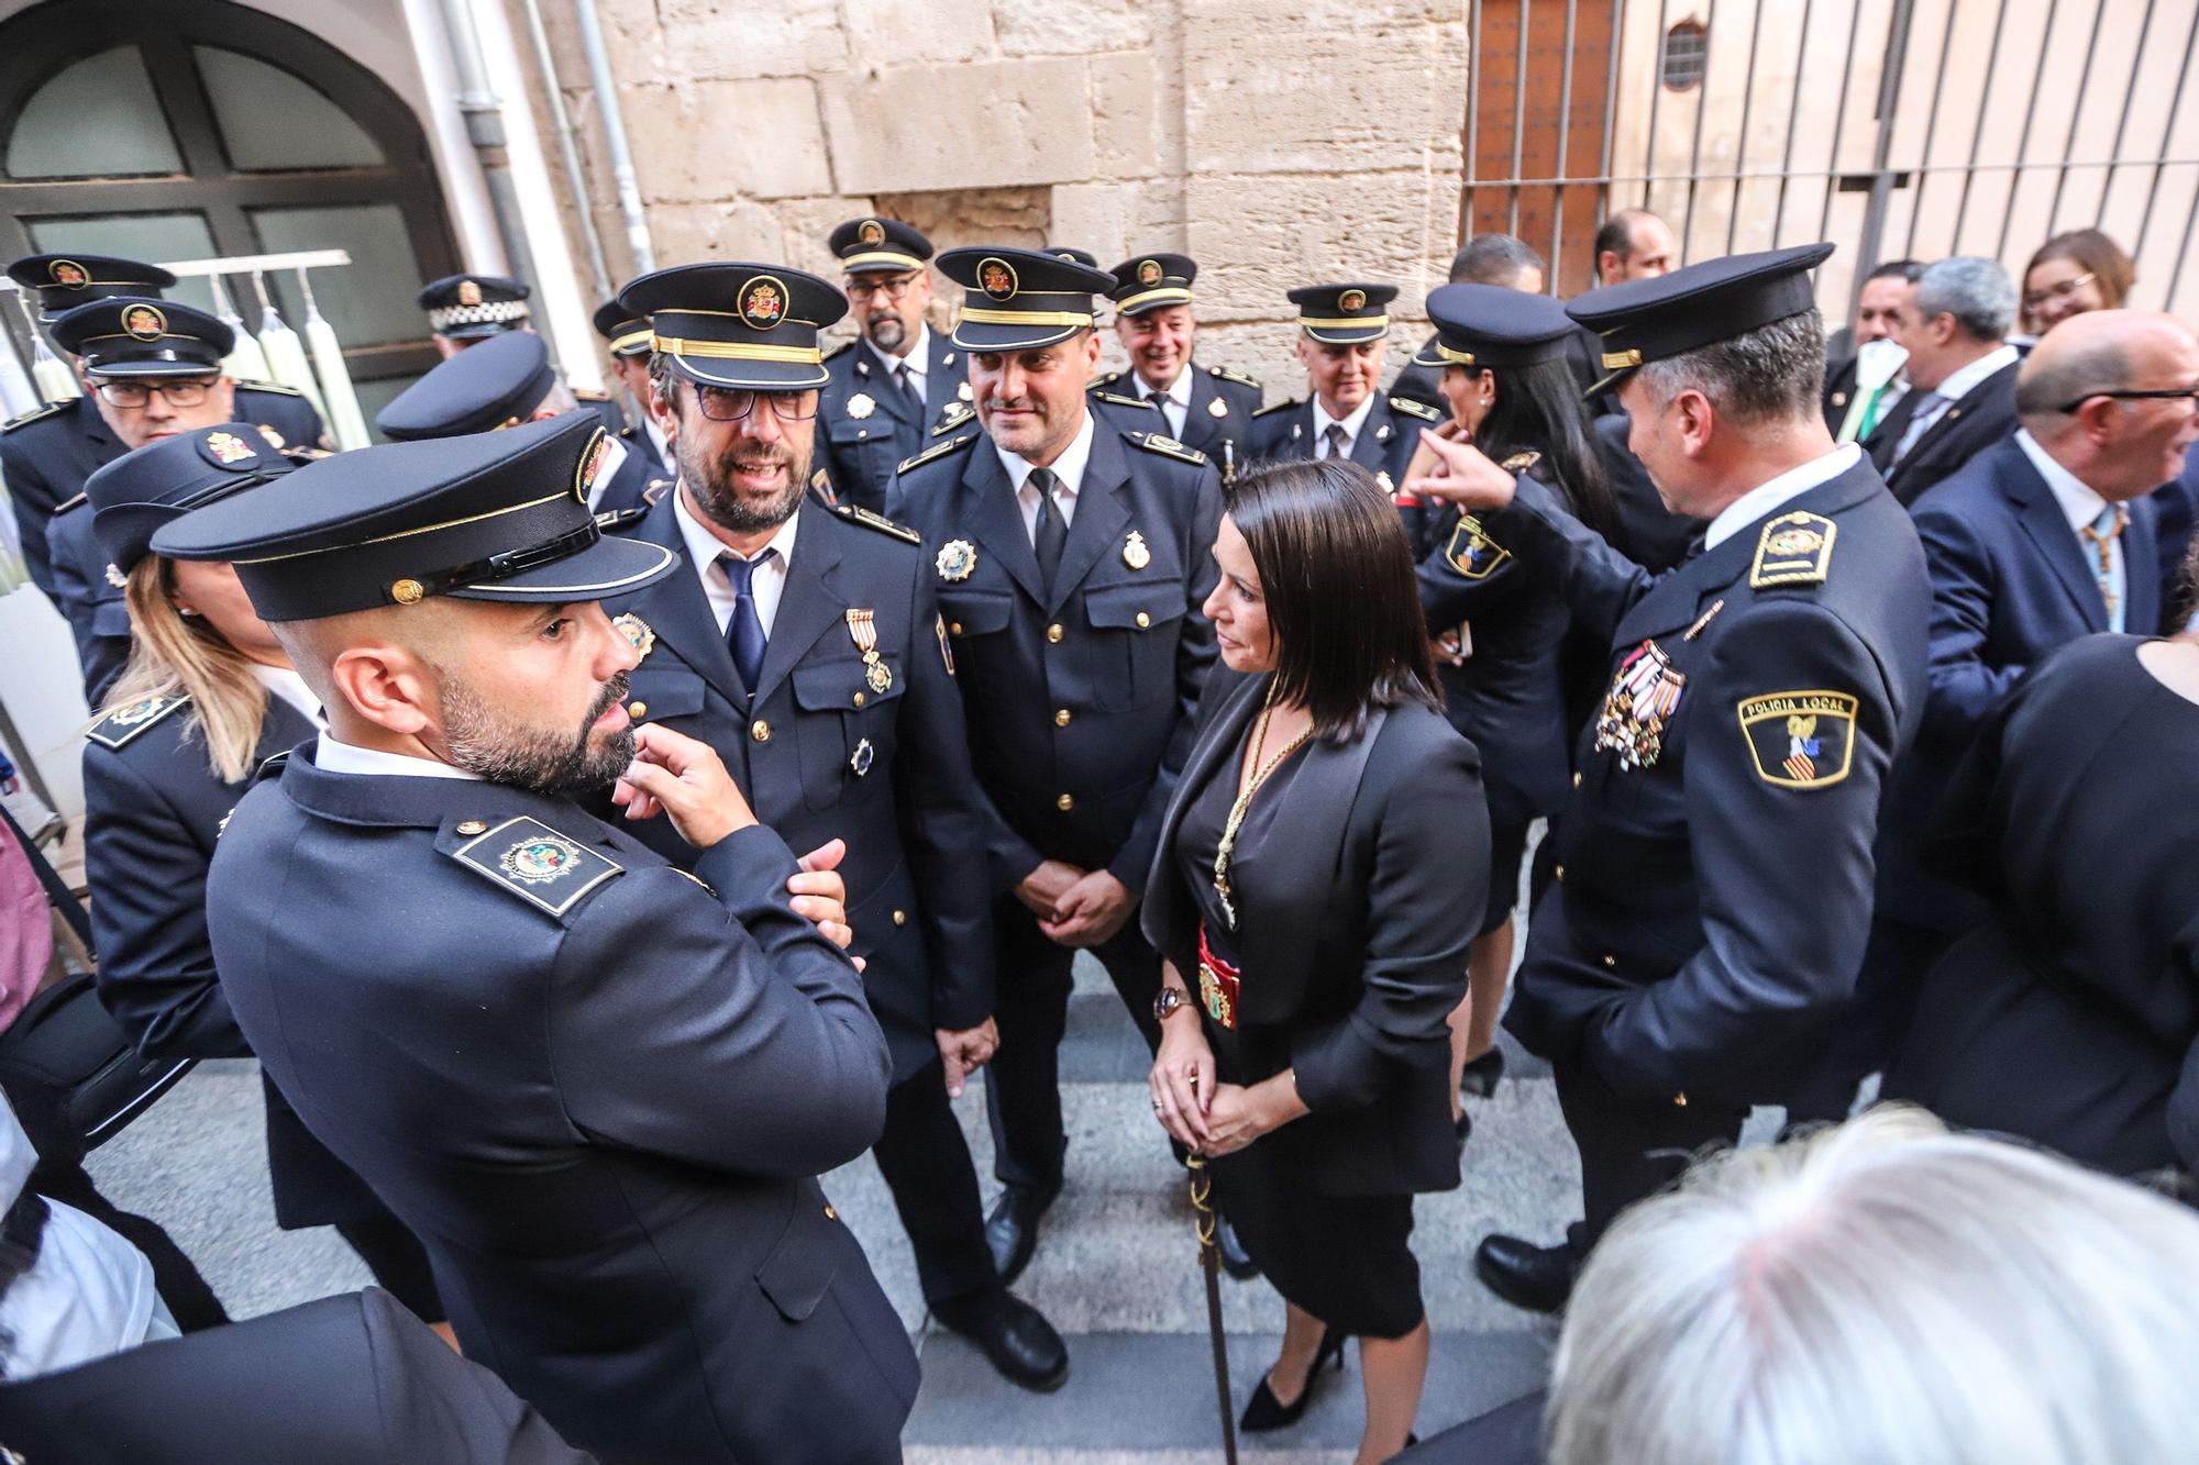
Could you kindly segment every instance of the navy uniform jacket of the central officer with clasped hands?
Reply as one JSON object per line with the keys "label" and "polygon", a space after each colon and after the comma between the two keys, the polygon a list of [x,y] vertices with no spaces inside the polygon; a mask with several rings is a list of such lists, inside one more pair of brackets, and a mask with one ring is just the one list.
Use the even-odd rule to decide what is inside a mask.
{"label": "navy uniform jacket of the central officer with clasped hands", "polygon": [[1051,594],[1007,469],[974,429],[902,464],[891,515],[924,535],[972,763],[1005,820],[992,891],[1049,858],[1146,889],[1214,664],[1201,612],[1216,581],[1214,464],[1095,418]]}

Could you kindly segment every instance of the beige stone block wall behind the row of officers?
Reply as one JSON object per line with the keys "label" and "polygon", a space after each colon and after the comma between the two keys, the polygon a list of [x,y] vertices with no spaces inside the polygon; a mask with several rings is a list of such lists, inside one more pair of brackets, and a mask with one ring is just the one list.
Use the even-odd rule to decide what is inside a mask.
{"label": "beige stone block wall behind the row of officers", "polygon": [[[625,273],[587,66],[567,7],[541,9]],[[1304,389],[1286,288],[1403,286],[1396,365],[1458,246],[1467,0],[598,9],[658,264],[833,275],[825,235],[860,213],[941,249],[1078,244],[1102,264],[1176,249],[1201,264],[1201,359],[1264,376],[1280,400]]]}

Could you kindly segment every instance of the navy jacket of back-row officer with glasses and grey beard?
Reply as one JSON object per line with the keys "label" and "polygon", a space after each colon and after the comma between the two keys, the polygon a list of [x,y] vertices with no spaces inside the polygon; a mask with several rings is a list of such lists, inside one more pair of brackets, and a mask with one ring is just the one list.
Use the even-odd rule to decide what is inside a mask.
{"label": "navy jacket of back-row officer with glasses and grey beard", "polygon": [[895,466],[970,420],[970,365],[963,352],[943,330],[926,334],[930,345],[921,418],[866,343],[849,341],[825,359],[831,381],[818,407],[825,420],[818,455],[842,504],[882,513]]}

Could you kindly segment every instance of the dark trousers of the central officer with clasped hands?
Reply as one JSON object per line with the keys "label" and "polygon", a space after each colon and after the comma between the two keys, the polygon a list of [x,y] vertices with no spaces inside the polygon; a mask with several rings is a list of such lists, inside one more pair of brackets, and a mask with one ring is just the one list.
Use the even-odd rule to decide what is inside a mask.
{"label": "dark trousers of the central officer with clasped hands", "polygon": [[[1069,963],[1075,950],[1056,946],[1038,928],[1038,917],[1016,900],[994,908],[998,952],[1001,1051],[985,1065],[985,1106],[992,1117],[992,1172],[1003,1186],[1053,1190],[1062,1183],[1060,1047],[1069,1025]],[[1152,1021],[1152,994],[1161,990],[1161,957],[1137,928],[1137,913],[1108,941],[1093,948],[1115,981],[1130,1018],[1148,1047],[1161,1034]]]}

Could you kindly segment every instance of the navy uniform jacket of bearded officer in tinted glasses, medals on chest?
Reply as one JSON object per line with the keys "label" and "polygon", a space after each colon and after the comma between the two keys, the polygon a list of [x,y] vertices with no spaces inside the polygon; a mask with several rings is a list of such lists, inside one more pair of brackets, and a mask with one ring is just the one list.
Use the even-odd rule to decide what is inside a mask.
{"label": "navy uniform jacket of bearded officer in tinted glasses, medals on chest", "polygon": [[[710,743],[750,807],[796,853],[847,840],[853,952],[893,1045],[895,1080],[935,1062],[932,1029],[992,1016],[985,849],[998,816],[970,772],[961,695],[915,535],[805,499],[754,697],[693,568],[605,609],[642,662],[636,722]],[[686,552],[673,495],[633,535]],[[849,612],[869,612],[875,667]],[[616,816],[611,816],[616,818]],[[664,818],[627,829],[677,864],[695,849]]]}

